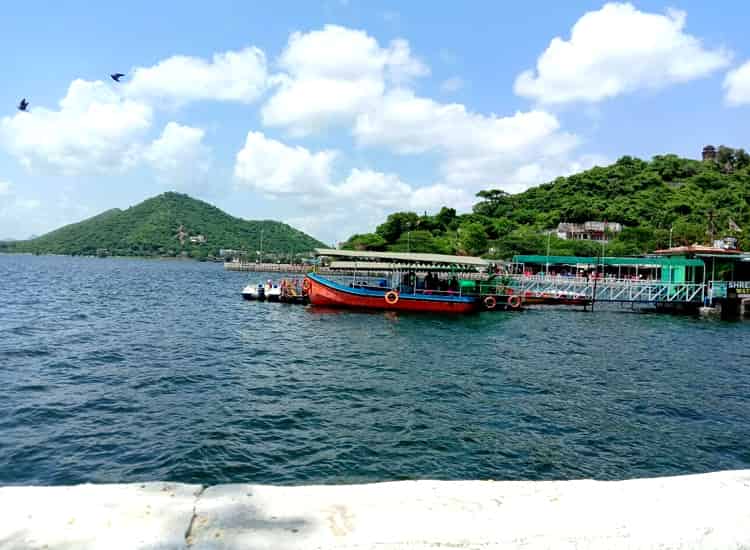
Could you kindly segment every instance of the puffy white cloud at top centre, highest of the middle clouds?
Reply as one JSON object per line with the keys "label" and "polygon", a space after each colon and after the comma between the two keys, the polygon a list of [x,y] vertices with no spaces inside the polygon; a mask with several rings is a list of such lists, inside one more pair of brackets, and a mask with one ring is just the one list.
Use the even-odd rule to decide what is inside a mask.
{"label": "puffy white cloud at top centre, highest of the middle clouds", "polygon": [[279,64],[285,72],[273,78],[277,90],[263,106],[263,123],[296,136],[350,123],[379,101],[388,82],[429,72],[406,41],[381,48],[364,31],[335,25],[293,33]]}

